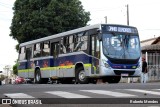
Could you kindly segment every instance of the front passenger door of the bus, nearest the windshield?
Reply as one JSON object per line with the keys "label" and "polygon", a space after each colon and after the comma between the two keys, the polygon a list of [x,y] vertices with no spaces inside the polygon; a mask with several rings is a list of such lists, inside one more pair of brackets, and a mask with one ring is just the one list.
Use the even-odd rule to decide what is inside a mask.
{"label": "front passenger door of the bus, nearest the windshield", "polygon": [[92,66],[91,74],[99,74],[99,40],[96,35],[91,36],[91,55],[92,55]]}

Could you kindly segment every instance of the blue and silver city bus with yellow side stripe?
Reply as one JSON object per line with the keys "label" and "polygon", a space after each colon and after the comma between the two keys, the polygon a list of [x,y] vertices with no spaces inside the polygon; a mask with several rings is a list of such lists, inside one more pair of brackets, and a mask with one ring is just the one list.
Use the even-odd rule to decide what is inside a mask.
{"label": "blue and silver city bus with yellow side stripe", "polygon": [[118,83],[142,69],[136,27],[86,26],[20,44],[18,75],[47,83],[87,84],[97,79]]}

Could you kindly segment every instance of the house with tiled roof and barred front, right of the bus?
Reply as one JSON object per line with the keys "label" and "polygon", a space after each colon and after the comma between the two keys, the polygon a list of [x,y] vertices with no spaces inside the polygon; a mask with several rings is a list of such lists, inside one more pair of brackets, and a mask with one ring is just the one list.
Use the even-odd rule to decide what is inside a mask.
{"label": "house with tiled roof and barred front, right of the bus", "polygon": [[141,41],[141,49],[148,63],[148,79],[160,80],[160,37]]}

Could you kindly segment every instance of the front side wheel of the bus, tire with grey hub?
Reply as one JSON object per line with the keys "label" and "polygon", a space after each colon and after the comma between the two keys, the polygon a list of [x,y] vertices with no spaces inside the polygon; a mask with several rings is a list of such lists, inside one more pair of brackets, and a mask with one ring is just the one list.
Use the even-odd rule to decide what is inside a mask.
{"label": "front side wheel of the bus, tire with grey hub", "polygon": [[80,84],[88,84],[89,80],[85,76],[85,71],[83,67],[80,67],[76,70],[76,80]]}

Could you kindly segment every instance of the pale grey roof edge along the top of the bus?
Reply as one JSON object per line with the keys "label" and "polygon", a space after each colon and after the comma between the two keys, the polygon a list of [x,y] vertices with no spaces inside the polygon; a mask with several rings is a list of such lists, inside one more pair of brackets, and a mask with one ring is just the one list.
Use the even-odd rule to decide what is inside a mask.
{"label": "pale grey roof edge along the top of the bus", "polygon": [[[85,26],[85,27],[81,27],[81,28],[78,28],[78,29],[74,29],[74,30],[58,33],[58,34],[55,34],[55,35],[47,36],[47,37],[44,37],[44,38],[24,42],[24,43],[20,44],[20,47],[30,45],[30,44],[39,43],[39,42],[42,42],[42,41],[51,40],[51,39],[54,39],[54,38],[57,38],[57,37],[63,37],[63,36],[66,36],[66,35],[82,32],[82,31],[89,30],[89,29],[100,28],[101,25],[117,25],[117,24],[95,24],[95,25],[91,25],[91,26]],[[117,25],[117,26],[127,26],[127,25]]]}

